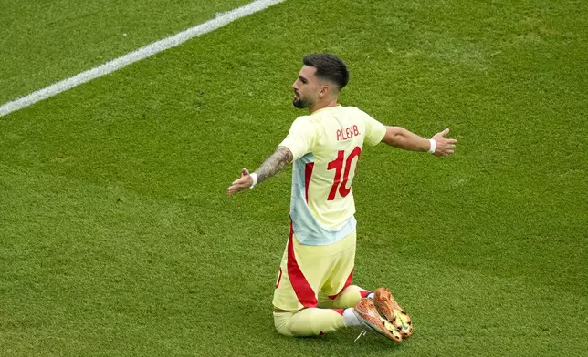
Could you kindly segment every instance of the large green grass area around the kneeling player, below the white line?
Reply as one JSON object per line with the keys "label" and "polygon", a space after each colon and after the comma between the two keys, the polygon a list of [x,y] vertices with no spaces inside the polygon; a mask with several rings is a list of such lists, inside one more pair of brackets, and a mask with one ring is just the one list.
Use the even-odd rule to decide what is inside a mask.
{"label": "large green grass area around the kneeling player, below the white line", "polygon": [[[287,1],[2,117],[3,355],[586,355],[587,18]],[[343,104],[460,141],[446,159],[366,148],[354,181],[355,282],[412,313],[403,344],[279,336],[290,169],[226,197],[300,114],[313,51],[348,62]]]}

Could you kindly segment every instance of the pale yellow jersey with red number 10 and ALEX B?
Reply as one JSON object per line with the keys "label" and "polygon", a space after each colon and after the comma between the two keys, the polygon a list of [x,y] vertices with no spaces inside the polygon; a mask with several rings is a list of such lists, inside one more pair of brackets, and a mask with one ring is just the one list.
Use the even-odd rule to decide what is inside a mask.
{"label": "pale yellow jersey with red number 10 and ALEX B", "polygon": [[279,146],[294,157],[290,217],[300,244],[333,244],[355,230],[355,168],[363,143],[374,146],[385,133],[357,107],[324,107],[294,120]]}

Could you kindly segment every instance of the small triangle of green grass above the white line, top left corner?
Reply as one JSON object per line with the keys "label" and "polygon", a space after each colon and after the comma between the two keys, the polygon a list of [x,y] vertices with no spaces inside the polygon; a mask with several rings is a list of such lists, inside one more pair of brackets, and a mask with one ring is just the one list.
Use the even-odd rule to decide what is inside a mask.
{"label": "small triangle of green grass above the white line, top left corner", "polygon": [[0,0],[0,103],[172,36],[247,0]]}

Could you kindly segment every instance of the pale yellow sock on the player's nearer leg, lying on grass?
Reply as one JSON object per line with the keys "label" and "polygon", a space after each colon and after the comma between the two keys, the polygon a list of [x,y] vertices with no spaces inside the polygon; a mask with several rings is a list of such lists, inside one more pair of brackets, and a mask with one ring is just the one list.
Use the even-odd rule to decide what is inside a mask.
{"label": "pale yellow sock on the player's nearer leg, lying on grass", "polygon": [[319,336],[345,327],[343,313],[341,309],[319,308],[274,312],[274,325],[286,336]]}

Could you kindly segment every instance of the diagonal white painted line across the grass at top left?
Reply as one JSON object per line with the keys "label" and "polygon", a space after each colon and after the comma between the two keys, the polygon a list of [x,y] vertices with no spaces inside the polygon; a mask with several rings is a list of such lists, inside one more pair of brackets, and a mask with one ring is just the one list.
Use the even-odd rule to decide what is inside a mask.
{"label": "diagonal white painted line across the grass at top left", "polygon": [[131,65],[131,63],[141,61],[142,59],[147,58],[149,56],[153,56],[158,52],[162,52],[163,50],[166,50],[168,48],[181,45],[195,36],[204,35],[206,33],[214,31],[217,28],[226,26],[227,24],[232,23],[236,19],[239,19],[247,15],[255,14],[258,11],[264,10],[271,5],[283,3],[284,1],[286,0],[256,0],[247,5],[237,7],[234,10],[228,11],[221,15],[217,15],[214,19],[208,20],[204,24],[190,27],[187,30],[184,30],[176,35],[163,38],[163,40],[154,42],[151,45],[141,47],[131,53],[113,59],[110,62],[107,62],[101,66],[97,66],[87,71],[81,72],[76,76],[72,76],[68,79],[59,81],[58,83],[55,83],[49,87],[39,89],[26,97],[20,97],[16,100],[7,102],[3,104],[2,107],[0,107],[0,117],[12,113],[18,109],[22,109],[23,107],[33,105],[38,101],[47,99],[48,97],[53,97],[73,87],[78,87],[79,85],[89,82],[94,78],[106,76],[109,73],[121,69],[123,66],[129,66]]}

